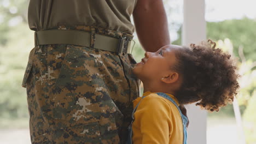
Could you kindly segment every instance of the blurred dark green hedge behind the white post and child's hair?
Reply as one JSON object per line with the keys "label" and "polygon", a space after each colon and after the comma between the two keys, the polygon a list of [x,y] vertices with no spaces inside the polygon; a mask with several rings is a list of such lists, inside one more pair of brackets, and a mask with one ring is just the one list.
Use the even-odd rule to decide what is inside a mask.
{"label": "blurred dark green hedge behind the white post and child's hair", "polygon": [[[234,46],[235,56],[238,57],[238,47],[244,47],[243,52],[247,59],[256,61],[256,21],[248,18],[241,20],[225,20],[222,22],[207,22],[207,39],[217,41],[219,39],[230,39]],[[181,29],[179,28],[179,38],[173,44],[181,44]]]}

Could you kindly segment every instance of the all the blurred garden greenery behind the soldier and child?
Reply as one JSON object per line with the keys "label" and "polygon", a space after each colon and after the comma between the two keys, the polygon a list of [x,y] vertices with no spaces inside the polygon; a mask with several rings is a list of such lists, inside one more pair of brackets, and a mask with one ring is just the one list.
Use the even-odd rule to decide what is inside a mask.
{"label": "all the blurred garden greenery behind the soldier and child", "polygon": [[[28,129],[26,89],[21,87],[28,54],[34,43],[33,32],[27,24],[28,2],[0,0],[0,129]],[[177,0],[164,2],[172,44],[181,45],[182,3]],[[241,90],[237,99],[249,144],[256,143],[255,27],[255,17],[207,21],[207,39],[217,41],[219,47],[238,58]],[[136,37],[135,41],[132,54],[139,62],[144,51]],[[234,117],[233,107],[228,105],[220,112],[208,114],[208,121],[220,118],[234,120]]]}

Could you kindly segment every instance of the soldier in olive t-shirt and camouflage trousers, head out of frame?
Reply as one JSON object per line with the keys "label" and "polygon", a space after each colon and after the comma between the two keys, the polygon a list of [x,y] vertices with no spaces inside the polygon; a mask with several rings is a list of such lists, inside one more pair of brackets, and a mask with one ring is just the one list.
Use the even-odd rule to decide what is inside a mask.
{"label": "soldier in olive t-shirt and camouflage trousers, head out of frame", "polygon": [[146,51],[170,44],[162,1],[30,1],[35,47],[22,86],[32,143],[126,142],[139,96],[131,15]]}

